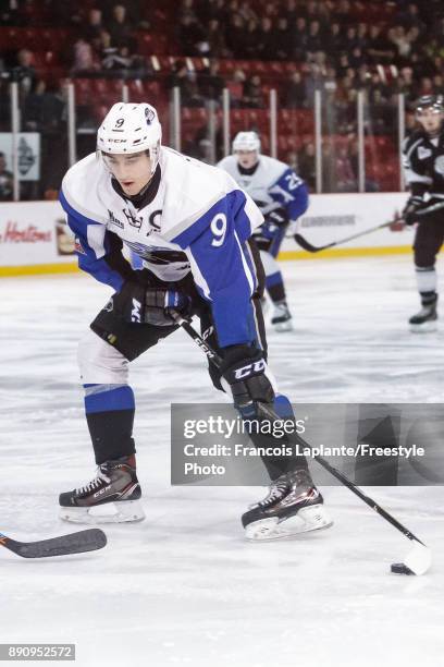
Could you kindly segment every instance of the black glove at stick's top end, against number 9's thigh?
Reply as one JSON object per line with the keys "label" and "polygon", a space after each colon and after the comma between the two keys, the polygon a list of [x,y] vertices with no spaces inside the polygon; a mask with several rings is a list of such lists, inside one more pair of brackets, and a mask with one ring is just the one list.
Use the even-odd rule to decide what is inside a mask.
{"label": "black glove at stick's top end, against number 9's thigh", "polygon": [[147,288],[137,282],[127,281],[114,296],[114,304],[121,311],[125,322],[171,327],[174,320],[170,312],[174,310],[187,317],[192,300],[177,290]]}

